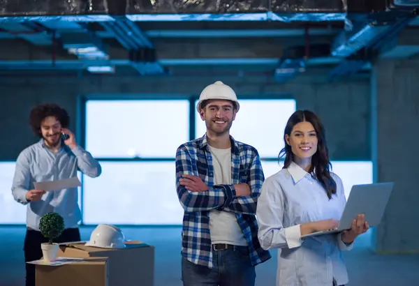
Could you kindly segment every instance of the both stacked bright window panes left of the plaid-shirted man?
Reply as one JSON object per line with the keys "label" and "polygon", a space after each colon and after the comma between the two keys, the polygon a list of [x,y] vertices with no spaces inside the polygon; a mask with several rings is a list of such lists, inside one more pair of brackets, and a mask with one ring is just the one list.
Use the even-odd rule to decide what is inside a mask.
{"label": "both stacked bright window panes left of the plaid-shirted man", "polygon": [[[87,101],[86,149],[103,171],[98,178],[83,178],[84,224],[182,223],[175,156],[191,139],[190,105],[190,100]],[[109,209],[115,212],[103,211]]]}

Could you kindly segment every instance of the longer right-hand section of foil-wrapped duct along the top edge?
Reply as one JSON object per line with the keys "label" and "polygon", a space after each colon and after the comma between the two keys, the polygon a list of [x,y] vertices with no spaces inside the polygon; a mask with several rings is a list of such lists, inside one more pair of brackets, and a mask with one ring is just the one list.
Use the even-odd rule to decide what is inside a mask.
{"label": "longer right-hand section of foil-wrapped duct along the top edge", "polygon": [[344,1],[346,0],[128,0],[126,15],[133,21],[342,20]]}

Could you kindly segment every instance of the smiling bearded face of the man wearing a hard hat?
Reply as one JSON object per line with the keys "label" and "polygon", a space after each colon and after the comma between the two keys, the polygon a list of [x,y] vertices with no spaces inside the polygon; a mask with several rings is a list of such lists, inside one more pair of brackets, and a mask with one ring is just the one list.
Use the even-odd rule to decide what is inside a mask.
{"label": "smiling bearded face of the man wearing a hard hat", "polygon": [[208,100],[200,111],[207,132],[220,136],[228,133],[235,119],[236,110],[230,100]]}

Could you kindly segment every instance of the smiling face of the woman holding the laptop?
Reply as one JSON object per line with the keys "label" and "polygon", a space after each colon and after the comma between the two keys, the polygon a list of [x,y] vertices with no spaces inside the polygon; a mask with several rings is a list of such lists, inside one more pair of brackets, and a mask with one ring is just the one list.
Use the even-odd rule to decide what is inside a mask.
{"label": "smiling face of the woman holding the laptop", "polygon": [[314,126],[308,121],[295,124],[291,134],[285,135],[286,144],[291,146],[294,156],[300,159],[311,159],[317,151],[318,138]]}

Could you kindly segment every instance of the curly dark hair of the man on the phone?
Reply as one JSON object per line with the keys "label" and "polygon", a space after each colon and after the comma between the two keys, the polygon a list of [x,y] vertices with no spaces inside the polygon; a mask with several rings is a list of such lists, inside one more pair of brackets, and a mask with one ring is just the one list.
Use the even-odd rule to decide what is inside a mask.
{"label": "curly dark hair of the man on the phone", "polygon": [[70,124],[70,116],[68,116],[66,110],[59,107],[59,105],[54,103],[38,105],[29,113],[29,125],[31,126],[32,131],[39,137],[42,137],[41,122],[48,116],[57,118],[63,128],[68,128],[68,125]]}

